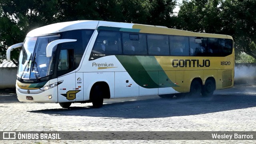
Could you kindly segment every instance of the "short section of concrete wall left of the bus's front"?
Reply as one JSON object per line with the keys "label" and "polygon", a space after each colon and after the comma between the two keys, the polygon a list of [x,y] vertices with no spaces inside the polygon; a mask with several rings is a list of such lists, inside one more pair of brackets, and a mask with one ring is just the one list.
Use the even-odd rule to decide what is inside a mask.
{"label": "short section of concrete wall left of the bus's front", "polygon": [[0,67],[0,89],[15,88],[17,67]]}

